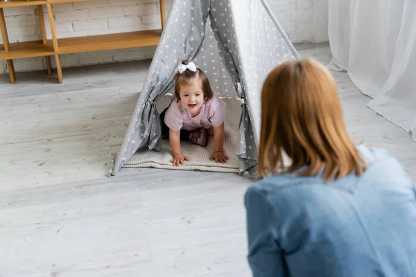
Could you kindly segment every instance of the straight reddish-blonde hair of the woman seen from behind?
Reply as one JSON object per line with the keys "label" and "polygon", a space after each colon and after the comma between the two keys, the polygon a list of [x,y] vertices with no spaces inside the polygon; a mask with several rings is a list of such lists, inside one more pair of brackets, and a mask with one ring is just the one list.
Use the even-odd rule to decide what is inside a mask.
{"label": "straight reddish-blonde hair of the woman seen from behind", "polygon": [[284,150],[292,160],[286,168],[298,176],[318,175],[325,181],[354,173],[367,165],[349,139],[336,82],[313,59],[291,60],[273,69],[261,92],[259,175],[285,170]]}

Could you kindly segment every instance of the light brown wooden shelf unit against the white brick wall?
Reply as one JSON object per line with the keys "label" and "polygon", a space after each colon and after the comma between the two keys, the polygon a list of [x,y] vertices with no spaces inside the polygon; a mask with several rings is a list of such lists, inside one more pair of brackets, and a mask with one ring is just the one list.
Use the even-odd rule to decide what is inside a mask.
{"label": "light brown wooden shelf unit against the white brick wall", "polygon": [[[129,33],[113,33],[107,35],[92,35],[86,37],[58,38],[53,17],[53,4],[82,2],[94,0],[0,0],[0,30],[3,44],[0,44],[0,60],[7,60],[10,82],[16,81],[13,60],[25,57],[45,57],[46,69],[51,74],[51,56],[55,57],[58,82],[62,83],[61,54],[82,53],[90,51],[114,50],[141,46],[155,46],[159,43],[162,29],[165,25],[164,0],[159,0],[162,29],[141,30]],[[47,39],[44,21],[43,5],[46,5],[49,23],[51,24],[51,37]],[[6,20],[3,8],[37,6],[42,40],[34,42],[9,43]]]}

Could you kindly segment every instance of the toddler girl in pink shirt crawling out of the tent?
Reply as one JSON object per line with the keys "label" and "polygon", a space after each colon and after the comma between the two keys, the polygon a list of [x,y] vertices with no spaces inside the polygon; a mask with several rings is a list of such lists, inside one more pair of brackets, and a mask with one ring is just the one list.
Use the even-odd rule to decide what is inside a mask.
{"label": "toddler girl in pink shirt crawling out of the tent", "polygon": [[169,139],[173,152],[171,163],[180,166],[189,157],[180,150],[180,140],[205,147],[207,134],[214,134],[214,153],[209,159],[225,163],[223,153],[225,102],[209,86],[207,75],[193,62],[182,61],[175,74],[175,93],[162,114],[162,136]]}

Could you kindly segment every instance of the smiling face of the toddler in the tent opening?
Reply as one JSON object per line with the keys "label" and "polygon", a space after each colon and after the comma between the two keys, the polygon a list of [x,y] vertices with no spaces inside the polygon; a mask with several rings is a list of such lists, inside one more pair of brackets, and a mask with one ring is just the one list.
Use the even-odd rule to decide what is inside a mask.
{"label": "smiling face of the toddler in the tent opening", "polygon": [[180,103],[193,116],[199,114],[204,103],[204,93],[200,80],[194,79],[180,87]]}

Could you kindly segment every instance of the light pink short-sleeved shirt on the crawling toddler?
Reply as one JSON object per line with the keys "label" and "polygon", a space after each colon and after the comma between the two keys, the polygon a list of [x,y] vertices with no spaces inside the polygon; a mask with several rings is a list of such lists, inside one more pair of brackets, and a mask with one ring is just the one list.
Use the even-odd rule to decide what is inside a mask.
{"label": "light pink short-sleeved shirt on the crawling toddler", "polygon": [[218,127],[225,121],[225,106],[225,102],[214,92],[213,98],[202,104],[200,113],[192,116],[173,95],[171,106],[167,109],[164,120],[166,126],[175,132],[180,129],[193,131],[202,127],[210,129]]}

